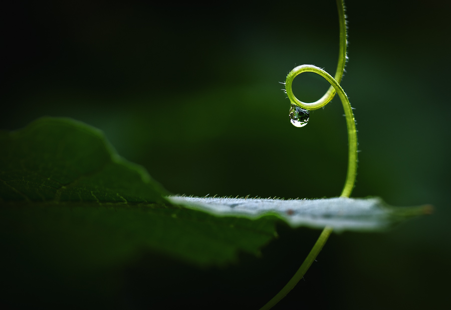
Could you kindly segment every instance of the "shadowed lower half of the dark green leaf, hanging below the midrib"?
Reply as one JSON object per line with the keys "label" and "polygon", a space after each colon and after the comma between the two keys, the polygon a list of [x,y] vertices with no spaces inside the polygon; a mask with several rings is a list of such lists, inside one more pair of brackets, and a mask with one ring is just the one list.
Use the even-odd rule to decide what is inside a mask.
{"label": "shadowed lower half of the dark green leaf, hanging below the midrib", "polygon": [[[196,265],[258,255],[276,235],[274,220],[218,218],[169,204],[14,203],[0,208],[0,233],[45,260],[112,266],[154,252]],[[64,237],[63,237],[64,236]],[[74,268],[74,266],[72,266]]]}

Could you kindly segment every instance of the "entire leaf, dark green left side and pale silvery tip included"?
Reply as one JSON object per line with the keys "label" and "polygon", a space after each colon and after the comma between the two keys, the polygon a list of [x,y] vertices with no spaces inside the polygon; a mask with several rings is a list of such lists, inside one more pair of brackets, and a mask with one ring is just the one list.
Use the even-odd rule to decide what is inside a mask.
{"label": "entire leaf, dark green left side and pale silvery tip included", "polygon": [[166,196],[142,167],[119,157],[101,131],[66,118],[0,132],[0,149],[0,233],[43,261],[53,253],[51,260],[66,264],[115,265],[151,251],[224,265],[239,252],[258,255],[280,221],[368,231],[426,210],[388,207],[379,199]]}

